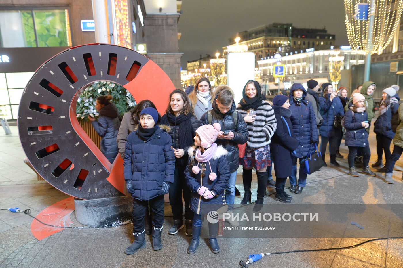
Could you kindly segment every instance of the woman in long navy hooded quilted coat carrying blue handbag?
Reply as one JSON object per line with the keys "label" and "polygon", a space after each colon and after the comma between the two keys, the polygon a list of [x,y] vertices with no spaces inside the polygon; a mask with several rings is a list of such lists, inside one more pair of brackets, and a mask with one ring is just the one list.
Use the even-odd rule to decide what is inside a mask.
{"label": "woman in long navy hooded quilted coat carrying blue handbag", "polygon": [[[290,192],[301,194],[306,185],[306,176],[303,165],[299,165],[299,179],[297,184],[297,158],[301,161],[308,155],[311,145],[318,142],[315,112],[310,101],[306,98],[306,90],[300,83],[294,83],[290,89],[291,123],[298,147],[293,156],[293,172],[290,176]],[[296,188],[297,186],[297,188]]]}

